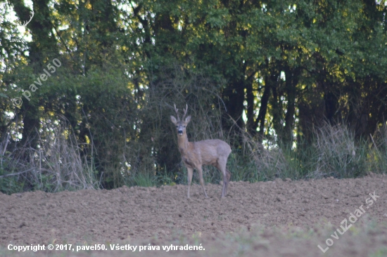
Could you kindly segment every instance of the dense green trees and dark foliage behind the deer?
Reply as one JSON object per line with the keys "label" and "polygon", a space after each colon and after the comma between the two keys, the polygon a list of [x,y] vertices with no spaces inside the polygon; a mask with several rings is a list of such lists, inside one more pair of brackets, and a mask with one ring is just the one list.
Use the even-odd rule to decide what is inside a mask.
{"label": "dense green trees and dark foliage behind the deer", "polygon": [[[189,105],[191,140],[227,140],[235,169],[255,159],[259,170],[240,179],[270,178],[258,159],[296,159],[299,178],[357,176],[365,172],[362,158],[384,158],[378,135],[387,116],[386,1],[0,0],[0,6],[0,188],[51,190],[45,180],[57,181],[55,190],[149,178],[179,183],[184,171],[169,120],[174,103]],[[30,20],[25,31],[15,17]],[[23,104],[15,106],[15,98]],[[355,158],[362,144],[377,152],[363,151],[355,158],[362,166],[343,173],[305,165],[319,155],[313,149],[322,135],[337,128],[355,144],[344,143],[341,153]],[[68,173],[59,179],[63,169]],[[75,183],[74,174],[85,170],[87,179]]]}

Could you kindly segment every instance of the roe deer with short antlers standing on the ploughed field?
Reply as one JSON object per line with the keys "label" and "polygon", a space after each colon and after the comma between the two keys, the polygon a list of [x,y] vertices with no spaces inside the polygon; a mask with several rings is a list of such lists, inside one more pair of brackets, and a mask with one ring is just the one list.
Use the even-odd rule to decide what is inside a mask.
{"label": "roe deer with short antlers standing on the ploughed field", "polygon": [[[189,187],[191,187],[192,174],[194,169],[199,173],[199,179],[201,186],[203,187],[203,192],[205,198],[208,198],[207,193],[204,189],[203,181],[203,170],[202,165],[212,165],[217,168],[223,175],[223,188],[222,188],[222,197],[227,195],[227,184],[231,178],[230,171],[226,168],[227,158],[231,152],[231,147],[226,142],[219,139],[212,140],[203,140],[198,142],[189,142],[186,136],[186,126],[191,121],[191,116],[186,117],[186,111],[188,110],[188,105],[184,109],[183,119],[179,118],[179,110],[176,109],[177,119],[171,116],[171,121],[176,126],[177,130],[177,143],[179,145],[179,152],[182,154],[182,161],[186,166],[188,171],[188,193],[187,197],[189,198]],[[186,117],[184,119],[184,117]]]}

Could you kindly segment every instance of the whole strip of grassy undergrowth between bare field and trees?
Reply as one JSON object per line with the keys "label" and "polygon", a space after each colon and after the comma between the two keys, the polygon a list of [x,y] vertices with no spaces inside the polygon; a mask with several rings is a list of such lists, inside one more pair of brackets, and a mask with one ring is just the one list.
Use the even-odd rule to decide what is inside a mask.
{"label": "whole strip of grassy undergrowth between bare field and trees", "polygon": [[[233,150],[229,155],[227,167],[231,171],[231,180],[254,183],[276,178],[356,178],[369,172],[386,172],[386,126],[381,126],[367,140],[355,139],[343,125],[325,124],[314,135],[312,142],[300,142],[300,147],[288,149],[264,147],[245,133],[245,149]],[[93,158],[84,157],[75,137],[65,133],[61,126],[51,127],[51,137],[39,138],[39,150],[13,147],[13,152],[9,152],[8,143],[8,138],[0,143],[0,191],[3,193],[103,187],[99,183],[103,174],[96,172]],[[28,157],[28,162],[22,161],[22,153]],[[127,186],[186,184],[186,169],[182,163],[179,165],[175,172],[167,169],[157,171],[154,166],[148,166],[120,173],[123,184]],[[220,171],[212,166],[203,166],[203,176],[205,183],[220,183],[222,180]],[[193,183],[198,183],[196,172]]]}

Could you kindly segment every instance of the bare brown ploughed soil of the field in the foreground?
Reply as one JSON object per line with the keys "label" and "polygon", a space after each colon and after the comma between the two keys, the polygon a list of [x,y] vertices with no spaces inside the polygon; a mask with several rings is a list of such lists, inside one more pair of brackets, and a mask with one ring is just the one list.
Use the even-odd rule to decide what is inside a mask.
{"label": "bare brown ploughed soil of the field in the foreground", "polygon": [[[353,224],[359,229],[339,235],[337,241],[333,239],[333,250],[326,254],[367,256],[387,245],[386,183],[386,175],[342,180],[231,182],[224,199],[220,199],[222,185],[206,185],[208,199],[204,198],[200,185],[191,187],[191,199],[186,199],[186,185],[0,193],[0,246],[3,247],[0,255],[15,256],[15,251],[6,249],[8,244],[186,242],[201,243],[206,248],[203,256],[226,254],[230,250],[227,247],[239,249],[245,244],[242,255],[240,249],[233,255],[248,256],[262,251],[265,256],[320,256],[322,251],[317,244],[325,248],[325,240],[340,228],[341,221],[362,206],[364,213]],[[378,196],[372,205],[369,193]],[[366,220],[376,228],[363,228]],[[325,234],[324,227],[329,228]],[[362,235],[357,235],[359,231]],[[307,233],[313,235],[309,238]],[[355,241],[350,243],[352,239]],[[106,252],[87,253],[103,256]],[[111,252],[114,256],[121,253]],[[191,254],[189,251],[173,254],[178,253]]]}

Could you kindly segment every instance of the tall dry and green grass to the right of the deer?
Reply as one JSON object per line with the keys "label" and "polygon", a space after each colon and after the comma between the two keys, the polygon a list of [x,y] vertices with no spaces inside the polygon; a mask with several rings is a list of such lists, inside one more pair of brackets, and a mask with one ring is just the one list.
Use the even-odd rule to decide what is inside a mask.
{"label": "tall dry and green grass to the right of the deer", "polygon": [[386,125],[374,136],[359,139],[348,126],[324,124],[314,131],[311,143],[298,142],[293,149],[274,143],[267,149],[247,133],[243,140],[244,149],[229,158],[234,180],[356,178],[387,171]]}

